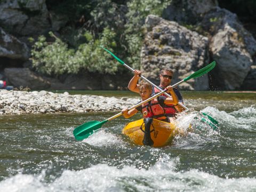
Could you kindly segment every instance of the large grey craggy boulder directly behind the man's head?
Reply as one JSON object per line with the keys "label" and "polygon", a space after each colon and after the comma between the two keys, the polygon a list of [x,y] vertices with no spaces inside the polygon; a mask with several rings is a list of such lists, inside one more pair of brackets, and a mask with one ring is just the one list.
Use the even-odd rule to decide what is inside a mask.
{"label": "large grey craggy boulder directly behind the man's head", "polygon": [[[155,15],[146,18],[147,33],[141,50],[141,71],[154,83],[159,71],[171,68],[172,83],[179,82],[209,63],[208,38]],[[208,90],[208,77],[191,79],[181,89]]]}

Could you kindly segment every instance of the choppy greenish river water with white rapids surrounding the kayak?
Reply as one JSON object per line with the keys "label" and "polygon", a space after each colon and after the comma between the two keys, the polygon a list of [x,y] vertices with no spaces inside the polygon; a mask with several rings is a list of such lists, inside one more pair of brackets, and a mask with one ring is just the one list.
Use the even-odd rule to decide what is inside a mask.
{"label": "choppy greenish river water with white rapids surrounding the kayak", "polygon": [[[0,191],[256,191],[256,93],[182,95],[190,110],[178,126],[201,129],[162,148],[135,146],[121,133],[140,115],[113,119],[83,141],[74,139],[76,126],[119,111],[0,116]],[[219,131],[195,120],[198,111]]]}

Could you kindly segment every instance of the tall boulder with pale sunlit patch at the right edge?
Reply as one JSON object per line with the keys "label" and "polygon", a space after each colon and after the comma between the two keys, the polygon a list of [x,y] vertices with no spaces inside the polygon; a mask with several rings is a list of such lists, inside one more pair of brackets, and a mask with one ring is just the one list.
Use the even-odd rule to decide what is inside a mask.
{"label": "tall boulder with pale sunlit patch at the right edge", "polygon": [[217,89],[239,89],[253,64],[256,41],[236,14],[217,7],[205,14],[201,22],[209,31],[210,53],[218,67],[213,74]]}

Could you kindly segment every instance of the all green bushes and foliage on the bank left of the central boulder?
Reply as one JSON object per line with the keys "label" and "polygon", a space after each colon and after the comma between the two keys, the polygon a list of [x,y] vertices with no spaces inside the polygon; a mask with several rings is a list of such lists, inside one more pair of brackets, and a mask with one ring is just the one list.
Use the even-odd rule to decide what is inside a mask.
{"label": "all green bushes and foliage on the bank left of the central boulder", "polygon": [[[123,4],[122,4],[123,3]],[[39,36],[31,51],[33,67],[51,76],[83,70],[115,74],[123,68],[102,45],[134,68],[140,68],[140,51],[148,14],[161,16],[171,0],[46,1],[47,9],[66,15],[67,26]],[[33,39],[30,38],[30,41]]]}

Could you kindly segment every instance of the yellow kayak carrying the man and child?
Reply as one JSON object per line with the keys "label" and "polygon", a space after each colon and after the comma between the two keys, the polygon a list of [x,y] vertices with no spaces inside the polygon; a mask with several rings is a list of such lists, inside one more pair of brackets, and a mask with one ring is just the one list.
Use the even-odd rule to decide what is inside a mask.
{"label": "yellow kayak carrying the man and child", "polygon": [[[149,137],[149,134],[145,133],[145,123],[143,122],[143,118],[127,123],[122,133],[129,136],[136,145],[145,145],[145,139],[148,139]],[[175,135],[179,133],[180,131],[177,129],[175,123],[167,123],[153,119],[153,122],[150,125],[150,146],[162,147],[170,145]],[[148,135],[147,138],[146,135]]]}

